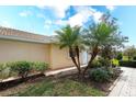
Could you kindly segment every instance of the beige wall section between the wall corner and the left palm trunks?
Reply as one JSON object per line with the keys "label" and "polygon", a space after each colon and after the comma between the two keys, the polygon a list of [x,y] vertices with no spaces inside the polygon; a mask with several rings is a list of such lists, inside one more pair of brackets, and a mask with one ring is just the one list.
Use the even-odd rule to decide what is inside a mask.
{"label": "beige wall section between the wall corner and the left palm trunks", "polygon": [[52,69],[73,66],[68,55],[68,48],[60,49],[56,44],[50,45],[50,60]]}

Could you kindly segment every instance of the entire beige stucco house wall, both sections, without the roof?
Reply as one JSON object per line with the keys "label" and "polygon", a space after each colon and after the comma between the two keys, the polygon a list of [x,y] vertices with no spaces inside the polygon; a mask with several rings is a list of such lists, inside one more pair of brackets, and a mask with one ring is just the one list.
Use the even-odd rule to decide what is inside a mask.
{"label": "entire beige stucco house wall, both sections, without the roof", "polygon": [[60,49],[59,45],[0,39],[0,63],[19,60],[45,61],[50,69],[75,66],[68,48]]}

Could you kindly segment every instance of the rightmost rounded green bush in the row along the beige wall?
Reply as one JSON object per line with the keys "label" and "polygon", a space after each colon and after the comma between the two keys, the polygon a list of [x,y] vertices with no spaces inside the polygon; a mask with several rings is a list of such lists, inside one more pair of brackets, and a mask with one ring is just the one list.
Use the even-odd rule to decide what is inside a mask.
{"label": "rightmost rounded green bush in the row along the beige wall", "polygon": [[48,68],[48,65],[46,63],[36,61],[32,64],[32,68],[43,73]]}

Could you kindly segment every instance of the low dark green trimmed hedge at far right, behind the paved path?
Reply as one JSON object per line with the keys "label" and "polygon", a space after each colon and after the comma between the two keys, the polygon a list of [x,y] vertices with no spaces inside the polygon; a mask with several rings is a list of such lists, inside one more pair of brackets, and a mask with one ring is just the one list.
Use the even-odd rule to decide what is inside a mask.
{"label": "low dark green trimmed hedge at far right, behind the paved path", "polygon": [[120,66],[136,68],[136,60],[121,60]]}

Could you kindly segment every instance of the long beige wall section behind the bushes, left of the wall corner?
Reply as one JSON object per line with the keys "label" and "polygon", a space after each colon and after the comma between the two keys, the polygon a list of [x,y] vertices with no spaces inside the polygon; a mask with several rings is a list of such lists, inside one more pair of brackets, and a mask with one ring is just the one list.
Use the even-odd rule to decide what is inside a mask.
{"label": "long beige wall section behind the bushes, left of the wall corner", "polygon": [[46,61],[49,64],[49,45],[0,39],[0,63],[18,60]]}

